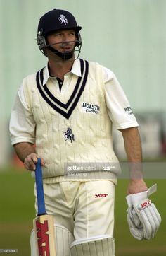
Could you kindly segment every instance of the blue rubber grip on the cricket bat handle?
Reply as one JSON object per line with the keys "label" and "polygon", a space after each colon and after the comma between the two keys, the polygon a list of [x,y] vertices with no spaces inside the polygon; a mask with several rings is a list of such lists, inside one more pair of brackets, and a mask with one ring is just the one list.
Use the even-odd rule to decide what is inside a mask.
{"label": "blue rubber grip on the cricket bat handle", "polygon": [[42,168],[41,168],[41,159],[38,158],[36,170],[35,170],[35,179],[37,187],[37,206],[38,214],[37,216],[46,214],[46,207],[44,202],[44,190],[43,190],[43,177],[42,177]]}

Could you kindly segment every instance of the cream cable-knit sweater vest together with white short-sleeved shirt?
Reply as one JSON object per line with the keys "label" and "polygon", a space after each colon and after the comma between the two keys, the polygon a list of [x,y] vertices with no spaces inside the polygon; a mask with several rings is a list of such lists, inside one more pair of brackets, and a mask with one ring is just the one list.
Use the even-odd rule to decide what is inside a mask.
{"label": "cream cable-knit sweater vest together with white short-sleeved shirt", "polygon": [[116,129],[138,126],[117,78],[81,59],[74,62],[61,92],[56,78],[48,75],[45,67],[23,80],[11,112],[11,144],[36,143],[46,161],[44,182],[116,178],[120,169],[115,166],[112,121]]}

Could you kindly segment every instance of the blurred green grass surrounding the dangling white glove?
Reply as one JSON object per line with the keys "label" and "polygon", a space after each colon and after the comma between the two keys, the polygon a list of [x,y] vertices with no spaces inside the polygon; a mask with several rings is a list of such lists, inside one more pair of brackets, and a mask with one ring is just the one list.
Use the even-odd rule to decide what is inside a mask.
{"label": "blurred green grass surrounding the dangling white glove", "polygon": [[166,218],[165,218],[165,180],[146,180],[148,187],[158,184],[158,191],[151,195],[152,201],[160,211],[162,223],[151,240],[139,241],[132,237],[126,219],[127,203],[125,193],[127,180],[119,180],[116,189],[115,201],[115,243],[117,256],[165,256],[166,255]]}

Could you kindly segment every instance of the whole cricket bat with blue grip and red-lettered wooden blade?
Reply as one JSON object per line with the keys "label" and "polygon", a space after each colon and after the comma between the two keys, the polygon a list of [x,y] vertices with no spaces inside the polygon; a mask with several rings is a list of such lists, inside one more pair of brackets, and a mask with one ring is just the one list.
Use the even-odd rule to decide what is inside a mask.
{"label": "whole cricket bat with blue grip and red-lettered wooden blade", "polygon": [[41,159],[38,158],[35,179],[37,187],[37,217],[33,221],[34,234],[39,256],[56,256],[56,243],[53,226],[53,215],[46,214],[44,202]]}

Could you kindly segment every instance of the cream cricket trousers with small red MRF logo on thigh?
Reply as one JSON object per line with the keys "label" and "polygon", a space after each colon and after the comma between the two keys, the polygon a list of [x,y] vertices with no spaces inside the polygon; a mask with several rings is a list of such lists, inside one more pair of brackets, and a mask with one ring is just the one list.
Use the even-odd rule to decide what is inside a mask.
{"label": "cream cricket trousers with small red MRF logo on thigh", "polygon": [[[36,195],[36,189],[34,188]],[[113,237],[115,184],[110,180],[44,184],[46,211],[68,228],[75,240]],[[35,204],[37,211],[37,204]]]}

